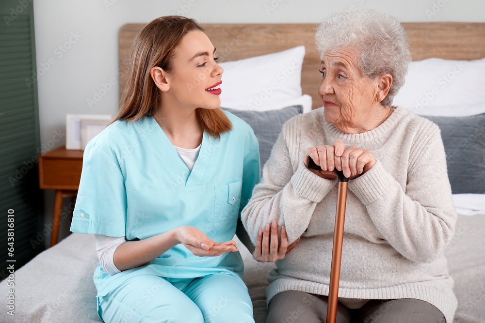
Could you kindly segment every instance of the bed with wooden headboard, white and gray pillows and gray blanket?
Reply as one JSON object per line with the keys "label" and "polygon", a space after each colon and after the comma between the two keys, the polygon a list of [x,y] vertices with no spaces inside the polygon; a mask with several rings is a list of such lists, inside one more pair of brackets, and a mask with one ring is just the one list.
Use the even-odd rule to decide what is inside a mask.
{"label": "bed with wooden headboard, white and gray pillows and gray blanket", "polygon": [[[120,75],[126,70],[129,46],[143,26],[127,24],[120,29]],[[410,68],[409,77],[421,82],[423,71],[428,72],[426,68],[429,68],[425,78],[432,82],[427,85],[429,88],[420,84],[415,97],[412,95],[416,90],[403,88],[406,95],[403,94],[401,100],[408,101],[409,107],[406,108],[428,115],[440,126],[458,213],[453,241],[445,251],[458,298],[453,322],[485,322],[485,100],[480,101],[485,95],[485,86],[483,83],[476,85],[472,89],[474,101],[464,103],[462,97],[461,106],[452,104],[446,96],[457,96],[460,91],[469,90],[469,77],[474,74],[483,78],[484,73],[479,73],[479,69],[483,68],[481,71],[485,72],[485,60],[481,60],[485,57],[485,23],[405,23],[404,26],[410,39],[413,61],[417,61]],[[315,24],[204,25],[225,64],[225,84],[244,81],[238,73],[247,72],[247,63],[260,71],[261,79],[265,68],[279,64],[279,73],[275,70],[276,74],[272,76],[276,80],[273,82],[275,86],[268,83],[270,85],[259,88],[260,92],[244,94],[246,97],[235,98],[232,95],[240,94],[232,92],[232,95],[222,98],[221,106],[245,119],[259,136],[262,163],[269,156],[282,123],[295,114],[321,107],[316,92],[321,76],[317,71],[319,53],[314,47],[314,27]],[[285,52],[286,56],[264,56],[277,52]],[[244,61],[254,57],[259,58]],[[469,62],[462,64],[472,68],[460,70],[458,61],[431,60],[423,65],[422,62],[432,57],[467,60]],[[285,62],[287,65],[281,65]],[[281,69],[282,66],[286,68]],[[452,83],[442,79],[442,76],[450,79],[453,75],[448,75],[450,71],[454,71],[453,78],[462,80]],[[432,76],[431,72],[436,76]],[[440,77],[445,87],[439,83]],[[295,90],[294,84],[300,81],[300,90]],[[435,83],[438,91],[433,87]],[[121,91],[124,86],[125,81],[121,79]],[[231,92],[228,91],[228,94]],[[244,247],[240,249],[245,264],[243,279],[253,301],[255,321],[262,323],[266,317],[266,276],[274,264],[254,261]],[[71,234],[16,271],[15,316],[8,315],[4,308],[0,321],[101,322],[96,311],[96,288],[92,278],[96,265],[94,236]],[[5,303],[10,289],[7,283],[7,280],[0,283],[0,297]]]}

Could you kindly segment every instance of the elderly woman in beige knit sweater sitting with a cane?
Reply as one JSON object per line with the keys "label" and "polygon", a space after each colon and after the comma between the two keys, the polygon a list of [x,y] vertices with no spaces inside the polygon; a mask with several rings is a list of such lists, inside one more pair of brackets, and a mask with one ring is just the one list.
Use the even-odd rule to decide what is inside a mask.
{"label": "elderly woman in beige knit sweater sitting with a cane", "polygon": [[391,105],[411,59],[404,28],[363,10],[330,16],[315,38],[323,108],[284,125],[242,212],[253,241],[272,221],[300,238],[275,256],[267,322],[325,322],[339,169],[350,181],[337,322],[450,323],[456,213],[440,131]]}

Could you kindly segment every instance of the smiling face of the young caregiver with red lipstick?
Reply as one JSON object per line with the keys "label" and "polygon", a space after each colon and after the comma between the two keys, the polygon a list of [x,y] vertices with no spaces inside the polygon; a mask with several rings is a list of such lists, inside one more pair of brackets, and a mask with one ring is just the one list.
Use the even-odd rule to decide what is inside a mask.
{"label": "smiling face of the young caregiver with red lipstick", "polygon": [[190,108],[218,108],[224,69],[217,64],[215,48],[202,31],[190,31],[182,39],[169,73],[170,93],[175,101]]}

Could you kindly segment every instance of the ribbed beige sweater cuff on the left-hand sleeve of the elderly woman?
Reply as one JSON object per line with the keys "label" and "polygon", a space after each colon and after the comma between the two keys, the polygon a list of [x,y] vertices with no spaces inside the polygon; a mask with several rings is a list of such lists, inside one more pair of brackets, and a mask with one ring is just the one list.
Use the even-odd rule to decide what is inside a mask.
{"label": "ribbed beige sweater cuff on the left-hand sleeve of the elderly woman", "polygon": [[291,184],[302,197],[313,202],[320,202],[337,183],[312,173],[303,162],[291,177]]}

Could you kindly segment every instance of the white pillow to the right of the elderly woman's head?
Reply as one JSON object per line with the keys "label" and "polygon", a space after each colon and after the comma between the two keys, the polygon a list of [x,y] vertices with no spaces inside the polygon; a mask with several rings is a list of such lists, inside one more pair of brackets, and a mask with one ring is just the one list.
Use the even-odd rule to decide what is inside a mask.
{"label": "white pillow to the right of the elderly woman's head", "polygon": [[406,82],[393,105],[423,115],[427,114],[426,109],[443,107],[461,107],[463,113],[468,113],[464,107],[485,102],[484,74],[485,58],[473,61],[430,58],[410,62]]}

